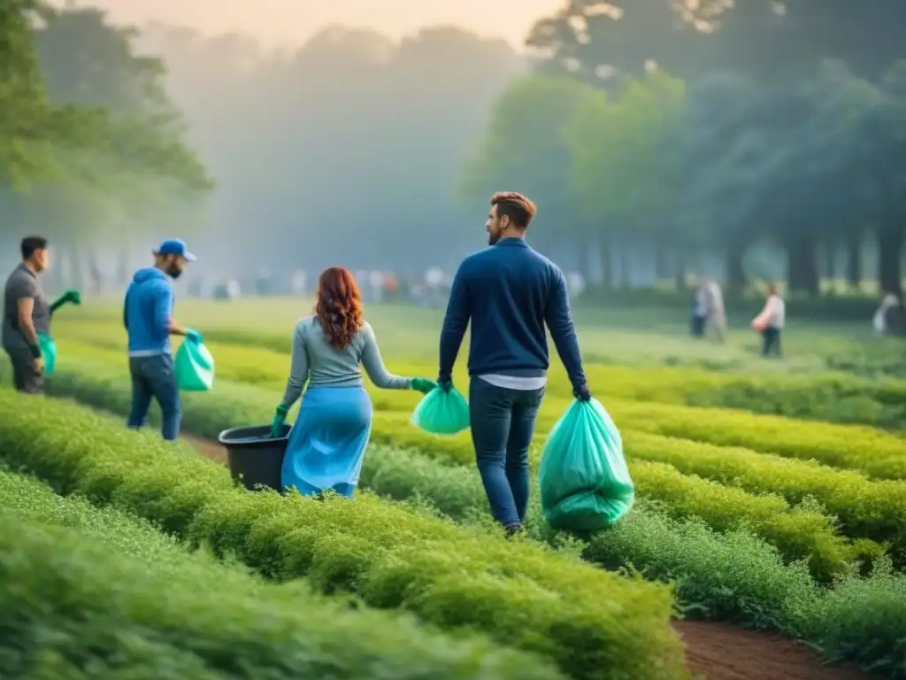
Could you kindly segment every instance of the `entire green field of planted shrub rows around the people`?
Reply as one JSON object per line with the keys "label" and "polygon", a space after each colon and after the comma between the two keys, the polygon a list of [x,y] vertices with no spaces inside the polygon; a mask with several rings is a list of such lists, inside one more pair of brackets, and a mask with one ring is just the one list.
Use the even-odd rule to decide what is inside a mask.
{"label": "entire green field of planted shrub rows around the people", "polygon": [[[212,439],[230,426],[268,422],[294,322],[309,308],[305,300],[179,301],[179,322],[198,328],[217,360],[215,389],[186,395],[184,430]],[[436,375],[440,312],[367,311],[391,371]],[[145,676],[159,673],[166,657],[180,677],[296,677],[292,659],[304,657],[313,665],[300,669],[317,669],[307,671],[312,677],[644,680],[702,670],[683,661],[670,627],[682,611],[801,639],[825,660],[906,678],[904,345],[873,337],[867,323],[792,320],[785,358],[768,361],[757,356],[744,320],[717,345],[691,339],[680,316],[652,314],[576,313],[593,392],[623,435],[636,508],[613,529],[566,536],[545,526],[535,486],[528,538],[514,543],[489,521],[467,434],[439,438],[409,424],[417,394],[369,385],[376,416],[356,502],[249,494],[188,446],[125,432],[130,385],[120,308],[86,301],[64,310],[54,322],[60,356],[52,398],[24,409],[13,393],[0,395],[2,459],[50,484],[0,474],[0,495],[34,498],[4,503],[0,534],[14,558],[0,567],[14,573],[14,562],[32,563],[84,604],[35,606],[26,628],[66,630],[94,616],[105,658],[120,654]],[[466,356],[464,349],[455,376],[463,388]],[[570,400],[554,361],[533,469]],[[55,576],[62,568],[54,570],[54,541],[78,546],[77,573],[100,563],[101,576],[84,586],[62,571]],[[221,559],[188,555],[198,545]],[[155,567],[143,570],[142,560]],[[112,601],[112,579],[102,575],[117,570],[138,585],[126,599],[120,593],[119,613],[92,614],[106,605],[92,605],[86,593]],[[229,615],[224,601],[185,586],[202,572],[225,579],[226,603],[247,616]],[[183,585],[164,602],[160,584],[173,574]],[[34,592],[42,588],[35,580]],[[23,592],[3,601],[18,603]],[[316,612],[307,626],[296,622],[288,597]],[[364,608],[332,613],[342,608],[338,599]],[[273,604],[276,623],[265,634],[253,623],[255,607],[272,602],[282,604]],[[174,627],[183,608],[192,615]],[[202,623],[205,612],[227,617],[230,635]],[[120,619],[133,642],[144,636],[147,655],[114,634]],[[394,636],[411,636],[410,651]],[[251,639],[260,640],[254,649]],[[41,663],[79,671],[67,648],[54,653]],[[737,653],[746,654],[741,644]],[[768,646],[758,654],[784,652]],[[30,659],[0,654],[0,675],[40,676]],[[255,675],[250,669],[259,666]],[[820,666],[813,675],[781,665],[769,675],[703,672],[863,677]]]}

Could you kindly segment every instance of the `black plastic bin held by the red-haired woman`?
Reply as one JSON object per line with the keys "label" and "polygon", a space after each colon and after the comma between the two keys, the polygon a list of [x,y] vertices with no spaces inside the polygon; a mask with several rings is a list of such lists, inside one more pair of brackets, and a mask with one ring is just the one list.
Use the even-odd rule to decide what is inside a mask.
{"label": "black plastic bin held by the red-haired woman", "polygon": [[290,426],[284,425],[282,436],[272,437],[270,425],[251,425],[220,432],[217,441],[226,449],[233,479],[251,491],[259,486],[281,491],[280,471],[289,431]]}

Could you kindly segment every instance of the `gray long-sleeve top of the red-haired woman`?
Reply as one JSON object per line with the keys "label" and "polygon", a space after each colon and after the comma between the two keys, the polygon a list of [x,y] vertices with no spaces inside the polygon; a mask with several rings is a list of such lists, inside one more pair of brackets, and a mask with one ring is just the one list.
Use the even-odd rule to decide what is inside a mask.
{"label": "gray long-sleeve top of the red-haired woman", "polygon": [[295,325],[293,360],[281,405],[291,408],[302,395],[305,381],[311,387],[356,387],[363,384],[361,368],[371,382],[385,390],[406,390],[411,378],[390,374],[371,325],[361,326],[345,349],[332,347],[316,316],[306,316]]}

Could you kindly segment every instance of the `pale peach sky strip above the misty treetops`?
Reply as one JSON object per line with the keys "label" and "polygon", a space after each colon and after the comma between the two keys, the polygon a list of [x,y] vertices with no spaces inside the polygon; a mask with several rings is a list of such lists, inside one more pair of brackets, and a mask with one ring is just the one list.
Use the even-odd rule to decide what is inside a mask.
{"label": "pale peach sky strip above the misty treetops", "polygon": [[[63,0],[58,0],[62,3]],[[242,32],[269,45],[297,45],[328,24],[367,25],[398,37],[425,25],[458,24],[521,45],[535,20],[563,0],[78,0],[116,20],[158,20],[203,33]]]}

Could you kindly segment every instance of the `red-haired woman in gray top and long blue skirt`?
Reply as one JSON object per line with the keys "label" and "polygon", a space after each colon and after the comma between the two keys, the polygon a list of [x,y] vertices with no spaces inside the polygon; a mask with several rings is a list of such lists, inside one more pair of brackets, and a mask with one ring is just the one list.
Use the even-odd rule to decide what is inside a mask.
{"label": "red-haired woman in gray top and long blue skirt", "polygon": [[371,397],[359,364],[384,390],[427,394],[437,386],[388,373],[374,330],[362,318],[355,279],[342,267],[329,267],[318,279],[314,314],[295,325],[290,375],[271,425],[272,436],[283,434],[286,414],[307,382],[284,455],[284,491],[310,496],[333,490],[352,498],[371,435]]}

